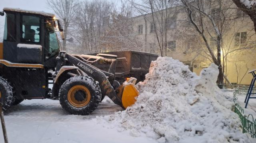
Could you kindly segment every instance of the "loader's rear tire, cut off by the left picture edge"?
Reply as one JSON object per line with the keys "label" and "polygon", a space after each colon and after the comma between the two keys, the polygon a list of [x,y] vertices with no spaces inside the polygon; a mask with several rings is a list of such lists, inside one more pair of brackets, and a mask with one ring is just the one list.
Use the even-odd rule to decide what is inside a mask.
{"label": "loader's rear tire, cut off by the left picture edge", "polygon": [[2,109],[6,111],[12,106],[15,97],[12,94],[12,86],[3,77],[0,77],[0,97],[0,102],[3,103]]}

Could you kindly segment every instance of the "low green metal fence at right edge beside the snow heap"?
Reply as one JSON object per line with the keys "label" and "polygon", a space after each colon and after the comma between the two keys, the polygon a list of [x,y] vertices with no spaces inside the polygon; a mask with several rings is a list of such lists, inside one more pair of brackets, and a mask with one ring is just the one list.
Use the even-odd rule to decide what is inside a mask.
{"label": "low green metal fence at right edge beside the snow heap", "polygon": [[236,102],[236,93],[234,92],[234,102],[235,102],[235,113],[239,115],[242,123],[243,133],[249,133],[251,137],[256,137],[256,119],[254,120],[253,115],[244,115],[244,109]]}

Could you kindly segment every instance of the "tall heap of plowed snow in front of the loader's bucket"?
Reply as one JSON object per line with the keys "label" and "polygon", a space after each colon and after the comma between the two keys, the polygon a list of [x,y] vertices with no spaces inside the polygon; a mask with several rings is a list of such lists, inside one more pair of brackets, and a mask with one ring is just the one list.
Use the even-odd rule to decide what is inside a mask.
{"label": "tall heap of plowed snow in front of the loader's bucket", "polygon": [[217,76],[215,64],[197,76],[178,60],[158,57],[137,84],[140,96],[134,106],[98,120],[160,143],[250,143],[231,110],[232,98],[216,86]]}

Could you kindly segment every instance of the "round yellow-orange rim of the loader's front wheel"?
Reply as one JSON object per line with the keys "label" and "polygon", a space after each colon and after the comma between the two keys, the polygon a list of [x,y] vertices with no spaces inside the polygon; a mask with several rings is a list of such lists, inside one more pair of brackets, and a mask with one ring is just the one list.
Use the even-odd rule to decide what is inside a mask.
{"label": "round yellow-orange rim of the loader's front wheel", "polygon": [[73,86],[68,94],[67,99],[69,103],[77,108],[86,106],[90,102],[90,91],[85,86]]}

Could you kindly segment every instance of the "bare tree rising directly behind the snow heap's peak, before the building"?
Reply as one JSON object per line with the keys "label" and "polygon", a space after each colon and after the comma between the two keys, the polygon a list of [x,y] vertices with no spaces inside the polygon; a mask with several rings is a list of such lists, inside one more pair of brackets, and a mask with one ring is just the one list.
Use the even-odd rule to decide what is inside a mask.
{"label": "bare tree rising directly behind the snow heap's peak, before the building", "polygon": [[[176,27],[174,0],[143,0],[143,4],[134,3],[137,11],[144,16],[145,23],[149,22],[151,34],[157,39],[157,45],[160,49],[160,55],[167,56],[168,43],[167,33]],[[152,31],[153,30],[153,31]],[[147,33],[145,33],[146,39]],[[172,51],[169,49],[169,51]]]}

